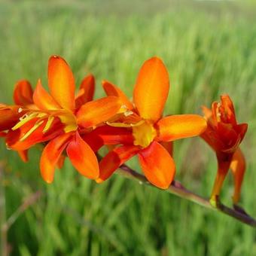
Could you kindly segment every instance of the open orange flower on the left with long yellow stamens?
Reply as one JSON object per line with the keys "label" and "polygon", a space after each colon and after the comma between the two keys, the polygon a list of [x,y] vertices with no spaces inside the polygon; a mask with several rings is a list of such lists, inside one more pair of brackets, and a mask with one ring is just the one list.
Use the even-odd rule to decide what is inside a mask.
{"label": "open orange flower on the left with long yellow stamens", "polygon": [[38,81],[33,93],[37,109],[27,111],[8,132],[8,147],[21,151],[50,140],[40,161],[41,175],[48,183],[53,181],[55,167],[62,162],[65,149],[78,172],[87,178],[98,178],[96,155],[80,134],[88,133],[116,114],[120,110],[120,99],[110,96],[91,101],[94,91],[91,75],[82,81],[75,97],[74,76],[59,56],[49,59],[48,85],[50,93]]}

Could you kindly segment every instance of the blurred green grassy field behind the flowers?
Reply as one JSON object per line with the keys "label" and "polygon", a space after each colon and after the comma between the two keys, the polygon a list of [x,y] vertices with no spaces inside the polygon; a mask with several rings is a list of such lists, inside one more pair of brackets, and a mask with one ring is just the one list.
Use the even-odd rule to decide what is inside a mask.
{"label": "blurred green grassy field behind the flowers", "polygon": [[[17,80],[47,81],[47,59],[63,56],[77,84],[84,75],[108,79],[132,95],[139,67],[160,56],[172,88],[166,114],[200,113],[229,93],[238,120],[248,122],[242,144],[248,169],[242,206],[256,216],[256,23],[254,3],[142,1],[0,2],[0,102],[11,102]],[[114,175],[95,184],[69,160],[53,184],[40,177],[38,149],[30,161],[1,144],[6,218],[37,190],[43,196],[11,226],[13,255],[255,255],[255,230],[170,194]],[[208,197],[213,152],[199,139],[175,143],[176,178]],[[136,160],[130,165],[138,169]],[[1,191],[0,191],[1,192]],[[221,197],[230,204],[232,177]],[[3,196],[3,194],[2,194]]]}

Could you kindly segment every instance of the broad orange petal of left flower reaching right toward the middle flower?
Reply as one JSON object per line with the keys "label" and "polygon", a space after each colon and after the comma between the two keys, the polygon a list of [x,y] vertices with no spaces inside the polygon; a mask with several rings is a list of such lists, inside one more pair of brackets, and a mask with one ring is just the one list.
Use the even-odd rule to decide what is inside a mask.
{"label": "broad orange petal of left flower reaching right toward the middle flower", "polygon": [[114,96],[87,102],[81,106],[77,113],[78,124],[84,128],[96,126],[117,114],[120,107],[120,99]]}

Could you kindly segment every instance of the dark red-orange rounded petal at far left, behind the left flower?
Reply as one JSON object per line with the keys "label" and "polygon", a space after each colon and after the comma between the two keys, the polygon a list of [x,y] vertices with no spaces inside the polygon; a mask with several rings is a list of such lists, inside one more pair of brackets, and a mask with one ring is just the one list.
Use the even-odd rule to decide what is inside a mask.
{"label": "dark red-orange rounded petal at far left, behind the left flower", "polygon": [[14,87],[14,102],[17,105],[33,104],[33,90],[29,81],[18,81]]}

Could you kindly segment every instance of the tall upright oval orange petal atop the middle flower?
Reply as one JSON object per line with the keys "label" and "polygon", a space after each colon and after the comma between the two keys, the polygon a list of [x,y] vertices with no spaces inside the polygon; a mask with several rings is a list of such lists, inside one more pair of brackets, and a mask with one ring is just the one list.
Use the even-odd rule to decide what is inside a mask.
{"label": "tall upright oval orange petal atop the middle flower", "polygon": [[139,71],[133,101],[142,118],[158,120],[169,93],[169,75],[161,59],[148,59]]}

